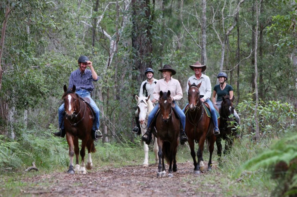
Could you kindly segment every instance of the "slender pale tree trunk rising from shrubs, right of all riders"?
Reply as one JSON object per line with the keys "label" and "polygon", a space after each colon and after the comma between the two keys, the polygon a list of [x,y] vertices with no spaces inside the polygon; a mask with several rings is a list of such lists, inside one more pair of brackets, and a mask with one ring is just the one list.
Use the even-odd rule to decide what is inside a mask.
{"label": "slender pale tree trunk rising from shrubs, right of all riders", "polygon": [[256,123],[256,141],[258,142],[260,139],[260,129],[259,129],[259,122],[257,116],[257,109],[259,103],[259,95],[258,95],[258,85],[257,85],[257,78],[258,78],[258,68],[257,68],[257,47],[258,47],[258,29],[259,29],[259,12],[258,12],[258,2],[256,0],[256,31],[255,31],[255,95],[256,95],[256,104],[255,104],[255,123]]}

